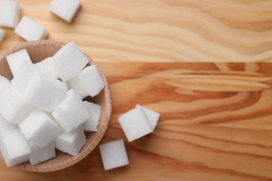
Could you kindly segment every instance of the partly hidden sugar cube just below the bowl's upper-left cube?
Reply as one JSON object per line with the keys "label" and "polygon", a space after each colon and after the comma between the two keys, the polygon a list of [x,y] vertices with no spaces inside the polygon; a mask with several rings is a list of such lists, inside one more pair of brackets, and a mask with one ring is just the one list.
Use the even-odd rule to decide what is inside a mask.
{"label": "partly hidden sugar cube just below the bowl's upper-left cube", "polygon": [[35,74],[44,74],[47,72],[43,71],[39,66],[29,63],[27,61],[23,61],[19,70],[17,70],[16,74],[13,75],[13,79],[11,80],[11,84],[15,88],[17,93],[24,95],[24,91],[29,85],[29,82],[33,78]]}

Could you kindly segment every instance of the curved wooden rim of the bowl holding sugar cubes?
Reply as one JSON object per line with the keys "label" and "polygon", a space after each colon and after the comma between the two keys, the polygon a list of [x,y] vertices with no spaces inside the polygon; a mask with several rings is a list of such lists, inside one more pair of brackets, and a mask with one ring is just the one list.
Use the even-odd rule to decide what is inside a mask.
{"label": "curved wooden rim of the bowl holding sugar cubes", "polygon": [[[17,52],[20,49],[27,49],[27,47],[40,47],[43,45],[50,45],[50,46],[55,46],[57,48],[61,48],[63,45],[66,45],[66,44],[63,42],[55,41],[55,40],[35,40],[35,41],[30,41],[30,42],[22,42],[18,45],[10,47],[9,49],[7,49],[4,52],[2,52],[0,54],[0,61],[3,61],[3,58],[6,58],[6,56],[8,54]],[[86,57],[89,59],[90,65],[96,65],[96,67],[98,68],[98,71],[100,72],[100,75],[105,83],[105,87],[104,87],[103,91],[104,91],[105,103],[106,103],[105,110],[107,110],[105,112],[105,117],[104,117],[105,121],[103,121],[102,129],[100,129],[100,132],[94,133],[94,134],[96,134],[96,136],[94,136],[93,140],[91,141],[91,148],[87,148],[85,150],[83,150],[83,148],[82,148],[82,150],[80,150],[80,154],[76,157],[70,156],[70,159],[66,159],[66,160],[61,159],[61,163],[59,163],[57,166],[45,166],[45,167],[41,166],[43,163],[46,163],[46,162],[32,166],[31,164],[29,164],[29,162],[25,162],[22,164],[17,164],[16,165],[17,167],[22,168],[25,171],[33,171],[33,172],[59,171],[64,168],[68,168],[69,166],[72,166],[73,164],[76,164],[77,162],[80,162],[82,159],[84,159],[84,157],[89,155],[97,147],[97,145],[98,145],[98,143],[100,143],[101,139],[103,139],[103,136],[105,135],[105,132],[106,132],[107,127],[109,125],[110,116],[112,114],[112,97],[111,97],[111,94],[109,91],[109,84],[107,82],[105,74],[103,74],[103,72],[100,70],[98,65],[88,55],[86,55]],[[101,119],[101,117],[100,117],[100,119]],[[53,159],[55,159],[55,158],[56,157],[54,157]]]}

